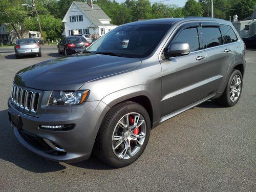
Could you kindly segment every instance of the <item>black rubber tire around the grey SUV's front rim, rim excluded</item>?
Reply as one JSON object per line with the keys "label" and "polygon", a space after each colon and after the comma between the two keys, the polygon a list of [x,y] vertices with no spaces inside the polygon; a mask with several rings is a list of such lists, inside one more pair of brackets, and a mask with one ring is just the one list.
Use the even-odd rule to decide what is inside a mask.
{"label": "black rubber tire around the grey SUV's front rim, rim excluded", "polygon": [[[144,140],[141,146],[135,145],[135,147],[137,147],[138,150],[136,149],[137,151],[133,156],[132,155],[128,156],[129,159],[120,159],[115,155],[114,149],[112,148],[113,146],[112,137],[116,127],[118,127],[117,124],[119,120],[121,120],[124,116],[130,113],[138,113],[143,117],[144,121],[142,122],[144,122],[143,130],[145,130],[145,136],[143,137]],[[151,131],[150,117],[148,116],[147,111],[140,104],[132,101],[120,103],[114,106],[105,115],[95,141],[94,153],[101,161],[105,162],[106,164],[109,164],[110,166],[120,168],[120,167],[130,165],[134,161],[136,161],[145,150],[148,139],[150,138],[150,131]],[[129,132],[129,131],[126,131],[126,132]],[[132,148],[131,146],[132,145],[130,143],[130,148]]]}

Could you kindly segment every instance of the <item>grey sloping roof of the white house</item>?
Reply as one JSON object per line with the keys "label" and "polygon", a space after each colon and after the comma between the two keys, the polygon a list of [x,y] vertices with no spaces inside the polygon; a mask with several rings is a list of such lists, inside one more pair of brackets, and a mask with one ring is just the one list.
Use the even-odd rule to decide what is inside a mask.
{"label": "grey sloping roof of the white house", "polygon": [[[72,5],[76,5],[80,11],[91,20],[92,24],[89,27],[96,26],[115,26],[113,24],[102,24],[99,20],[111,20],[111,18],[96,4],[93,4],[93,9],[87,3],[83,2],[73,2]],[[71,6],[72,6],[71,5]],[[69,10],[70,11],[70,10]],[[69,12],[68,11],[68,12]],[[66,14],[67,16],[67,14]],[[66,19],[66,16],[63,18],[62,22]]]}

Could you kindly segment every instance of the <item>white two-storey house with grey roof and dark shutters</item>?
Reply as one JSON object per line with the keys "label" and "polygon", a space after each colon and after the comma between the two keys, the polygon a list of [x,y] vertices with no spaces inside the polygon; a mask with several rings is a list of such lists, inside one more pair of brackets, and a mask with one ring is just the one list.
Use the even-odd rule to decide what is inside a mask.
{"label": "white two-storey house with grey roof and dark shutters", "polygon": [[73,2],[62,20],[65,31],[62,35],[90,34],[102,36],[116,25],[110,24],[111,18],[96,4]]}

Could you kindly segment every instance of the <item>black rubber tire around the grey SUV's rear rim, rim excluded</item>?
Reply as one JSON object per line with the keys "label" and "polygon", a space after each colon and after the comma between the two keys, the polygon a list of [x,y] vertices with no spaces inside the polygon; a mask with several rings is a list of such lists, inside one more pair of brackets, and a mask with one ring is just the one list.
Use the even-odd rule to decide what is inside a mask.
{"label": "black rubber tire around the grey SUV's rear rim, rim excluded", "polygon": [[[236,98],[236,100],[232,100],[230,97],[230,94],[231,94],[231,83],[232,83],[232,80],[235,76],[239,76],[240,79],[241,79],[241,87],[240,87],[240,94],[238,95],[238,97]],[[241,93],[242,93],[242,88],[243,88],[243,76],[241,74],[241,72],[237,69],[233,69],[229,79],[228,79],[228,82],[227,82],[227,86],[225,88],[225,91],[223,92],[223,94],[221,95],[221,97],[217,98],[217,102],[221,105],[224,105],[224,106],[233,106],[235,104],[237,104],[237,102],[239,101],[240,97],[241,97]]]}

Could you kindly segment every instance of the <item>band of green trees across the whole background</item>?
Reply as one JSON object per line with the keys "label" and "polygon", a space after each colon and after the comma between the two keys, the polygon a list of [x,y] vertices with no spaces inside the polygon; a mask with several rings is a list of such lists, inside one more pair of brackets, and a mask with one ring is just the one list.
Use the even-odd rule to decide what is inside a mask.
{"label": "band of green trees across the whole background", "polygon": [[[86,2],[87,0],[76,0]],[[27,5],[23,5],[27,4]],[[14,29],[18,37],[22,37],[26,30],[38,31],[35,11],[31,0],[1,0],[0,23],[8,24],[8,29]],[[36,8],[45,38],[56,39],[61,36],[63,25],[61,20],[67,13],[72,0],[35,0]],[[135,22],[139,19],[186,17],[186,16],[210,16],[210,0],[187,0],[184,7],[173,4],[164,4],[166,1],[126,0],[117,3],[111,0],[95,0],[94,4],[112,19],[111,23],[122,25]],[[254,10],[256,0],[214,0],[214,17],[229,19],[229,16],[237,14],[239,19],[250,16]]]}

